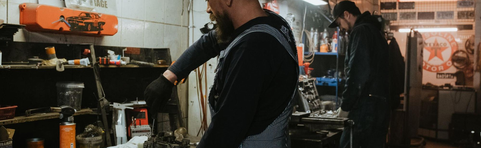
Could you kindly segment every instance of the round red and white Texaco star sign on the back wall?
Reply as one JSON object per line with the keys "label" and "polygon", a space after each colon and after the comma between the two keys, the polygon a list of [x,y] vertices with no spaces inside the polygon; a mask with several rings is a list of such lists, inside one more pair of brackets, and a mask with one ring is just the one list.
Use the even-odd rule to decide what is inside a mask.
{"label": "round red and white Texaco star sign on the back wall", "polygon": [[[444,71],[451,66],[451,55],[457,50],[457,43],[450,33],[432,32],[423,34],[424,56],[423,68],[432,71]],[[427,56],[429,55],[429,56]]]}

